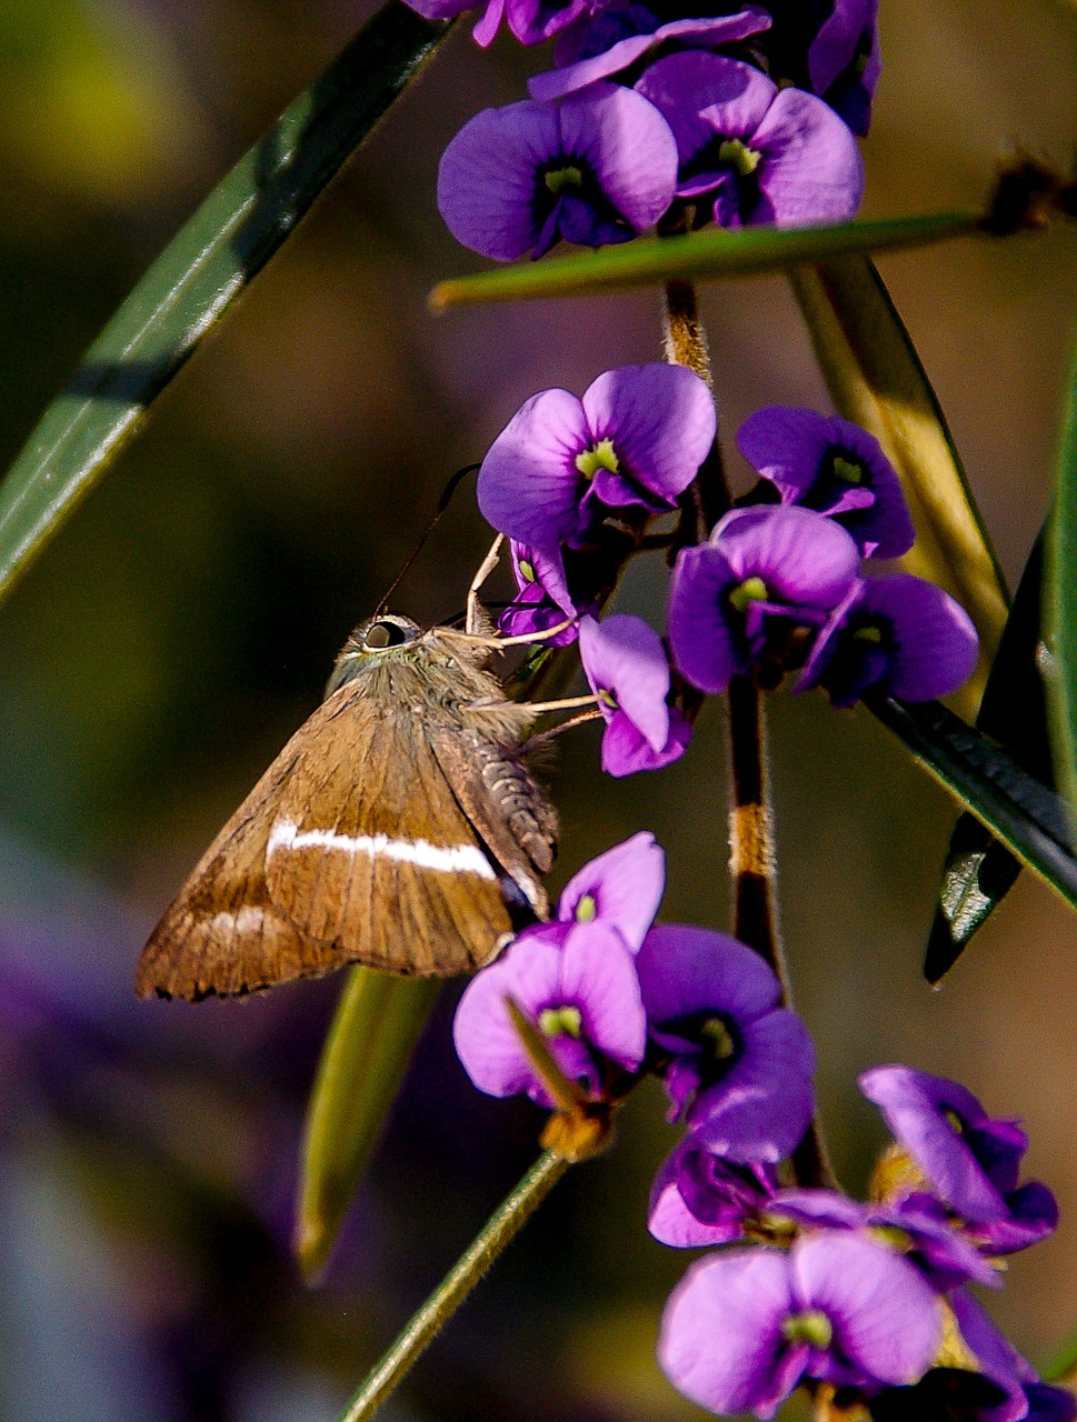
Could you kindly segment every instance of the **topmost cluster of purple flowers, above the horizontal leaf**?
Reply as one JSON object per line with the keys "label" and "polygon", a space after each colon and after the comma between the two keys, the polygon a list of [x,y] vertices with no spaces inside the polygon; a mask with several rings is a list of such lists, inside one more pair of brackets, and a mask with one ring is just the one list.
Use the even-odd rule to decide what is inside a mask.
{"label": "topmost cluster of purple flowers, above the horizontal leaf", "polygon": [[[431,18],[469,9],[410,3]],[[504,16],[524,44],[556,34],[556,67],[531,81],[529,100],[457,134],[438,175],[441,215],[460,242],[502,262],[559,239],[627,242],[659,222],[845,220],[864,188],[854,135],[868,129],[878,78],[876,6],[700,16],[660,0],[489,0],[478,43]]]}

